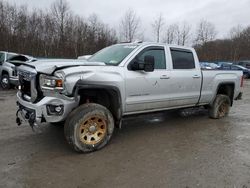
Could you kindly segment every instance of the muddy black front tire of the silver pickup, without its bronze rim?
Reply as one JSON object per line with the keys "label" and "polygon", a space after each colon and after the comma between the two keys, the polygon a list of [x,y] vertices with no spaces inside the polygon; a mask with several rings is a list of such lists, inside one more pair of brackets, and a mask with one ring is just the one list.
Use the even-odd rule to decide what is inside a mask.
{"label": "muddy black front tire of the silver pickup, without its bronze rim", "polygon": [[[86,121],[88,122],[88,120],[90,120],[92,122],[92,117],[97,117],[97,123],[101,119],[105,124],[106,131],[105,134],[103,133],[101,140],[99,140],[97,143],[86,144],[82,137],[82,134],[85,133],[85,130],[84,133],[82,133],[81,128],[85,125]],[[112,114],[106,107],[95,103],[83,104],[76,108],[70,113],[64,125],[64,134],[68,144],[75,151],[80,153],[88,153],[103,148],[109,142],[113,131],[114,119]],[[99,133],[97,134],[99,135]]]}

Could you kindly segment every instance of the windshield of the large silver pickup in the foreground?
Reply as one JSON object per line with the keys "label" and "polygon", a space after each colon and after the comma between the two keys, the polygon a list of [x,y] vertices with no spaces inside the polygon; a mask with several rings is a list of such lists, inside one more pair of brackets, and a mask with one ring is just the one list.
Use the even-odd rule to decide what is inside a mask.
{"label": "windshield of the large silver pickup in the foreground", "polygon": [[91,56],[90,62],[104,62],[108,65],[118,65],[125,59],[138,45],[114,45],[97,52]]}

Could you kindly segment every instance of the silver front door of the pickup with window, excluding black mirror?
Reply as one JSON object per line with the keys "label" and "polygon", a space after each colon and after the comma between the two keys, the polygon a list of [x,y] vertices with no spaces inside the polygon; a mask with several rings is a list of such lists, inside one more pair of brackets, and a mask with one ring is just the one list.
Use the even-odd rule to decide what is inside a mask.
{"label": "silver front door of the pickup with window, excluding black mirror", "polygon": [[[142,62],[144,57],[154,57],[153,72],[132,70],[133,62]],[[166,53],[163,46],[144,48],[128,65],[126,75],[126,107],[125,113],[132,114],[140,111],[153,111],[166,107],[168,71]]]}

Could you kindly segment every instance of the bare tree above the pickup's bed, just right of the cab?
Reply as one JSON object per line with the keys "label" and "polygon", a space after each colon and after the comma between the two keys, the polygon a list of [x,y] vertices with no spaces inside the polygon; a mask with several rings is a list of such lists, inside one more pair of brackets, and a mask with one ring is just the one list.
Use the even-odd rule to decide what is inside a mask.
{"label": "bare tree above the pickup's bed, just right of the cab", "polygon": [[215,36],[215,26],[206,20],[201,20],[197,27],[195,43],[198,45],[204,44],[214,40]]}

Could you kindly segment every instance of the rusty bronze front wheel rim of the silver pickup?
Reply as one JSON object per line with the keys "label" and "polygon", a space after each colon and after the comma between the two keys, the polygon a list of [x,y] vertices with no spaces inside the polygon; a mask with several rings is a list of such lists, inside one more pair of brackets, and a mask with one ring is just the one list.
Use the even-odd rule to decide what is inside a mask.
{"label": "rusty bronze front wheel rim of the silver pickup", "polygon": [[101,116],[91,116],[81,122],[79,128],[80,140],[87,145],[99,143],[107,132],[107,121]]}

